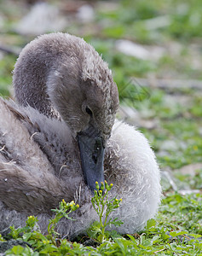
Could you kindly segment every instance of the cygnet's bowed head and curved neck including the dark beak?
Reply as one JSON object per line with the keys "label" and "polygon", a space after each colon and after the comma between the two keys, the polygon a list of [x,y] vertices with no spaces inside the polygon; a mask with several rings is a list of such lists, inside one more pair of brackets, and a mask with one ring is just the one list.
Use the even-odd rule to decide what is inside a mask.
{"label": "cygnet's bowed head and curved neck including the dark beak", "polygon": [[[19,93],[17,84],[19,74],[22,76],[19,67],[22,61],[26,78],[27,73],[39,78],[32,88],[38,88],[38,84],[41,87],[40,91],[37,89],[37,96],[32,92],[33,97],[29,94],[26,100],[30,105],[39,106],[41,112],[48,113],[44,107],[47,102],[47,108],[51,105],[60,113],[78,140],[84,179],[94,190],[95,181],[104,181],[104,148],[118,109],[118,89],[107,63],[81,38],[63,33],[39,37],[26,46],[14,70],[15,96],[24,105],[25,90]],[[40,78],[43,76],[44,79]]]}

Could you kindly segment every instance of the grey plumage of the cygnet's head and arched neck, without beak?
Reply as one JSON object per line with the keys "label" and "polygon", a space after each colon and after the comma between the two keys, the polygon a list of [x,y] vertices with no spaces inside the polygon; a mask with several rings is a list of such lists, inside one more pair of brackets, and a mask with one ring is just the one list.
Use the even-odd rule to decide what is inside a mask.
{"label": "grey plumage of the cygnet's head and arched neck, without beak", "polygon": [[89,124],[84,114],[89,106],[95,126],[109,136],[118,108],[107,63],[83,39],[64,33],[43,35],[22,50],[14,68],[14,96],[22,106],[61,116],[73,133]]}

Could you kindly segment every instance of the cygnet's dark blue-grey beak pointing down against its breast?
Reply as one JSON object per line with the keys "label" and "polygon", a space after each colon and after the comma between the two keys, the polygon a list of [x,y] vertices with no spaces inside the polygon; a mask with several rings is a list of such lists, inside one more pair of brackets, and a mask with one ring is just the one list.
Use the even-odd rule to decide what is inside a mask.
{"label": "cygnet's dark blue-grey beak pointing down against its breast", "polygon": [[84,181],[92,192],[95,182],[104,183],[104,146],[102,137],[93,126],[78,133],[78,147],[80,149]]}

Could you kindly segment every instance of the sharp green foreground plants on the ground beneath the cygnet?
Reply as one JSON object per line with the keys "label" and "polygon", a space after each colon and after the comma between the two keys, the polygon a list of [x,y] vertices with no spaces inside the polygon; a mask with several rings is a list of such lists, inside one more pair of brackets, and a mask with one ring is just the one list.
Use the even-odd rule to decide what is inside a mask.
{"label": "sharp green foreground plants on the ground beneath the cygnet", "polygon": [[[55,240],[58,234],[54,230],[44,236],[36,226],[37,219],[31,216],[25,228],[12,228],[10,233],[10,236],[26,241],[30,246],[15,246],[6,255],[202,255],[201,202],[200,194],[182,196],[169,193],[162,201],[156,220],[150,219],[143,232],[125,236],[106,232],[103,234],[105,239],[95,243],[96,247],[66,239]],[[61,211],[60,207],[60,212],[57,210],[50,224]],[[92,229],[95,230],[94,227]],[[89,241],[92,238],[89,236]],[[81,241],[86,242],[86,239],[85,236]]]}

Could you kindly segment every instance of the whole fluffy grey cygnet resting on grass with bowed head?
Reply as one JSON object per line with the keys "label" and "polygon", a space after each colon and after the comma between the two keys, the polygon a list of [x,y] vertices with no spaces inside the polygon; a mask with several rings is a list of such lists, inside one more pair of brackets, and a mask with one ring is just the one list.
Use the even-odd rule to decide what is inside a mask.
{"label": "whole fluffy grey cygnet resting on grass with bowed head", "polygon": [[95,49],[69,34],[35,39],[16,62],[14,94],[18,104],[0,101],[0,231],[34,214],[45,232],[65,199],[80,207],[58,231],[76,236],[97,218],[90,198],[104,179],[123,199],[111,216],[124,221],[116,230],[134,233],[153,218],[159,167],[139,131],[114,124],[118,90]]}

